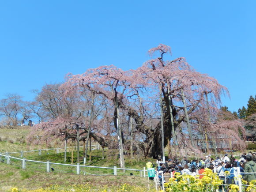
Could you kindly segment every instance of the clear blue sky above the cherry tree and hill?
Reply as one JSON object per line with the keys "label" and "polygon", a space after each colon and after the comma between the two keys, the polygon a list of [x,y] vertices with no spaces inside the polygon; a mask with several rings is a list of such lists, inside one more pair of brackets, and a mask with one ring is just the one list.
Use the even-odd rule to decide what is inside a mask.
{"label": "clear blue sky above the cherry tree and hill", "polygon": [[231,111],[256,94],[256,0],[0,2],[0,99],[113,64],[135,69],[163,43],[228,87]]}

